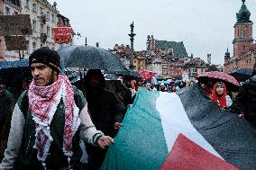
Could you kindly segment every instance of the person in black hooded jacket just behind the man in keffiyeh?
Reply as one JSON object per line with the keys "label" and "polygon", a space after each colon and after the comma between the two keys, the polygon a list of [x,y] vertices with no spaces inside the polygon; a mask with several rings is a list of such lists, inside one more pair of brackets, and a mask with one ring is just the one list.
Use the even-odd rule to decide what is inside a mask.
{"label": "person in black hooded jacket just behind the man in keffiyeh", "polygon": [[[114,93],[105,90],[105,77],[98,69],[90,69],[85,76],[85,95],[88,112],[97,130],[112,138],[121,127],[124,106]],[[100,169],[107,149],[87,145],[88,166]]]}

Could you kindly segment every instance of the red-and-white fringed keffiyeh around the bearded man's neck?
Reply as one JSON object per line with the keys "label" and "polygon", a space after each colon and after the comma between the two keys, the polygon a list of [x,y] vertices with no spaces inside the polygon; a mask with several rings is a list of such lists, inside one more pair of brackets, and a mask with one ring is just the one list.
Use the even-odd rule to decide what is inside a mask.
{"label": "red-and-white fringed keffiyeh around the bearded man's neck", "polygon": [[74,100],[74,91],[68,76],[59,74],[58,80],[48,86],[36,86],[32,81],[29,87],[29,108],[36,127],[36,139],[33,148],[38,149],[37,158],[41,162],[45,161],[50,143],[53,141],[50,136],[50,122],[61,98],[65,105],[62,150],[65,156],[71,157],[73,154],[71,150],[72,139],[78,130],[80,119],[78,118],[79,110]]}

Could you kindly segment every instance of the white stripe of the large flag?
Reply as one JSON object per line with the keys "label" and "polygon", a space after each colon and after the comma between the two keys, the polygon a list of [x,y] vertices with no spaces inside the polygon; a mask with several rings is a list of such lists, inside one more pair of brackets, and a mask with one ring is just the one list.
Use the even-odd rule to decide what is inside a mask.
{"label": "white stripe of the large flag", "polygon": [[156,101],[156,109],[160,112],[161,124],[169,151],[178,138],[178,134],[183,133],[197,145],[205,148],[216,157],[222,158],[189,121],[177,94],[160,92]]}

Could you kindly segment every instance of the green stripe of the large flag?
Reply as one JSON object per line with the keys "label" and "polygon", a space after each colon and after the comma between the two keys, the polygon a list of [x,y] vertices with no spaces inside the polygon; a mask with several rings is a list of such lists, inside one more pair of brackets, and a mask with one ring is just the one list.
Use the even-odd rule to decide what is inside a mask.
{"label": "green stripe of the large flag", "polygon": [[168,157],[160,114],[159,92],[140,88],[123,126],[108,148],[102,169],[159,169]]}

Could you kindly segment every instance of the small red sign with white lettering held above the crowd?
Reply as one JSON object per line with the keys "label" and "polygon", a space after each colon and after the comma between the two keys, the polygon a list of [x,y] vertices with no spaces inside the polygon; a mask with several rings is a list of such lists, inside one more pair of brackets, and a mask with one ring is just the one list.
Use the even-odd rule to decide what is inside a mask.
{"label": "small red sign with white lettering held above the crowd", "polygon": [[54,43],[63,44],[72,42],[72,28],[71,27],[55,27],[53,28]]}

